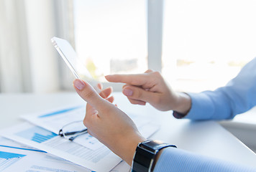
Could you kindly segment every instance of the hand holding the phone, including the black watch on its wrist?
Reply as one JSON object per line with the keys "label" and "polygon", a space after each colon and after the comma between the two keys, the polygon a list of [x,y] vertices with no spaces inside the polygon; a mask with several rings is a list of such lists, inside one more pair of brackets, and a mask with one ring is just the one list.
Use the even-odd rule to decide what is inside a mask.
{"label": "hand holding the phone, including the black watch on its wrist", "polygon": [[132,166],[132,171],[152,171],[159,151],[175,147],[143,138],[129,116],[111,103],[110,88],[102,90],[99,86],[101,92],[98,94],[87,82],[74,80],[73,85],[87,102],[83,123],[88,133]]}

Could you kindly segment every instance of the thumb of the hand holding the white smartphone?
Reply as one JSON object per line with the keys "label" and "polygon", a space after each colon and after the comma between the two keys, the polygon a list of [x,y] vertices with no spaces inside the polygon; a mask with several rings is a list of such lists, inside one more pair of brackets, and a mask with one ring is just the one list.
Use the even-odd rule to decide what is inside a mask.
{"label": "thumb of the hand holding the white smartphone", "polygon": [[102,105],[106,103],[106,101],[102,99],[99,93],[96,92],[96,90],[94,90],[94,88],[87,82],[76,79],[73,81],[73,86],[78,95],[93,106],[93,108],[101,110],[101,107],[104,107]]}

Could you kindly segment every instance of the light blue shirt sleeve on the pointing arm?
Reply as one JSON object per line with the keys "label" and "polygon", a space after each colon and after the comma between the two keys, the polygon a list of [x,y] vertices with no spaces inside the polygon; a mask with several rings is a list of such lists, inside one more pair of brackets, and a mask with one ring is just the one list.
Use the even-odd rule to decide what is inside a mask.
{"label": "light blue shirt sleeve on the pointing arm", "polygon": [[250,110],[256,105],[256,58],[245,65],[226,86],[188,95],[192,105],[185,118],[191,120],[232,119]]}

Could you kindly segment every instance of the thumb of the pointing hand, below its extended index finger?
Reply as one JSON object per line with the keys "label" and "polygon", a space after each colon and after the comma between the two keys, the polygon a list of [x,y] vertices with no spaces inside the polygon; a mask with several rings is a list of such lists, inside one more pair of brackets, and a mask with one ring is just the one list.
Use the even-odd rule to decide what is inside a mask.
{"label": "thumb of the pointing hand, below its extended index finger", "polygon": [[144,102],[154,103],[157,101],[157,93],[144,90],[141,87],[127,85],[123,87],[124,95],[133,100],[141,100]]}

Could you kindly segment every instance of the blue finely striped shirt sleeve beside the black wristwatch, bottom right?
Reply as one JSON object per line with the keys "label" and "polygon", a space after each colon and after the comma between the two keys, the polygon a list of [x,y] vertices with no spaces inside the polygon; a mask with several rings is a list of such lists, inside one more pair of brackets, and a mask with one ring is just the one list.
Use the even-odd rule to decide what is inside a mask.
{"label": "blue finely striped shirt sleeve beside the black wristwatch, bottom right", "polygon": [[160,158],[158,159],[157,163],[155,164],[154,168],[154,172],[164,171],[256,172],[256,168],[239,165],[237,163],[231,163],[229,161],[221,161],[216,158],[200,156],[195,153],[182,151],[178,148],[165,148],[163,153],[160,155]]}

